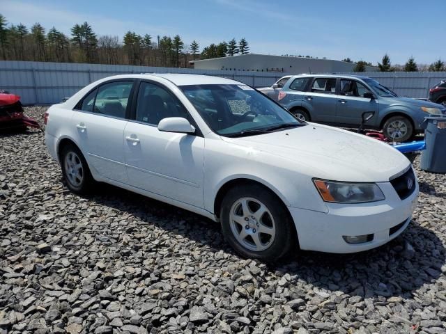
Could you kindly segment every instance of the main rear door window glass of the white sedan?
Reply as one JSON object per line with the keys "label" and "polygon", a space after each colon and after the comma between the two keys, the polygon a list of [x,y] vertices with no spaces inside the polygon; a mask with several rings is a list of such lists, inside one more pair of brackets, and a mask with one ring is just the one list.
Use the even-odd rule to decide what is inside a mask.
{"label": "main rear door window glass of the white sedan", "polygon": [[116,81],[100,86],[93,111],[107,116],[125,118],[125,109],[127,109],[132,85],[133,81]]}

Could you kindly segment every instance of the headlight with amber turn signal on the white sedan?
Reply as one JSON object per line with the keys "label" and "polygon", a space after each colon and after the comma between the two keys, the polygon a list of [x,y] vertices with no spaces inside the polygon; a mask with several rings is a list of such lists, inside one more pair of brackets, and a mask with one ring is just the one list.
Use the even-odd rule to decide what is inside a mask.
{"label": "headlight with amber turn signal on the white sedan", "polygon": [[347,183],[325,180],[313,180],[325,202],[364,203],[384,200],[384,194],[374,183]]}

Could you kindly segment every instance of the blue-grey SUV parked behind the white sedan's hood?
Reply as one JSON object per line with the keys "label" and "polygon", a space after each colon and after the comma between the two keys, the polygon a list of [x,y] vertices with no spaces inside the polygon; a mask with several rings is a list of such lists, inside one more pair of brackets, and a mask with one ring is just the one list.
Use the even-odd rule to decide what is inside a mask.
{"label": "blue-grey SUV parked behind the white sedan's hood", "polygon": [[357,75],[295,75],[277,100],[302,120],[341,127],[357,127],[362,113],[374,111],[367,127],[382,129],[391,141],[409,140],[423,132],[424,117],[446,113],[445,106],[399,97],[375,79]]}

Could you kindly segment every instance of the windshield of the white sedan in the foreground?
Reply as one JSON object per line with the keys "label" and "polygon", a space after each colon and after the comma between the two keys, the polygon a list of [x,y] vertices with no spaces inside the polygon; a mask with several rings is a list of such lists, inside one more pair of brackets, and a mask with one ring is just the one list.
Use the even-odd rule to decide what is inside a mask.
{"label": "windshield of the white sedan in the foreground", "polygon": [[222,136],[251,136],[306,124],[243,84],[180,86],[180,89],[210,129]]}

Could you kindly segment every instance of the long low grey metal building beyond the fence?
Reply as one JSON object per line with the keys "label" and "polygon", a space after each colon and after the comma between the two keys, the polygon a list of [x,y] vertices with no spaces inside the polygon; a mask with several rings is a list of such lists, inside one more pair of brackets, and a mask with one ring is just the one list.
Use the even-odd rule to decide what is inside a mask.
{"label": "long low grey metal building beyond the fence", "polygon": [[[239,70],[255,72],[283,73],[332,73],[353,72],[354,63],[291,56],[272,56],[268,54],[240,54],[237,56],[191,61],[196,70]],[[373,66],[366,66],[366,72],[375,72]]]}

